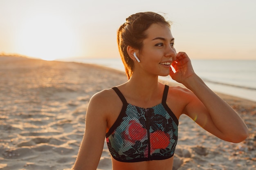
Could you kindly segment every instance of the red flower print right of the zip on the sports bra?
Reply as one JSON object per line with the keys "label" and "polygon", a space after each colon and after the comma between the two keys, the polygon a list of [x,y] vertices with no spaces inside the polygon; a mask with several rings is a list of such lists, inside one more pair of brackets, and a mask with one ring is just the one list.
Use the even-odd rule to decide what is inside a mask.
{"label": "red flower print right of the zip on the sports bra", "polygon": [[170,135],[161,130],[150,133],[152,149],[165,149],[170,144]]}

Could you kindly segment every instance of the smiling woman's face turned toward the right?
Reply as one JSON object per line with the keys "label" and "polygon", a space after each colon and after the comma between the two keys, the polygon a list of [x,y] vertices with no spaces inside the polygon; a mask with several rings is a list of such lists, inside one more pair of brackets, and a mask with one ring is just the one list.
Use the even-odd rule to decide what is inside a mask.
{"label": "smiling woman's face turned toward the right", "polygon": [[152,24],[146,30],[147,38],[139,53],[141,68],[151,74],[167,76],[171,63],[176,58],[174,38],[166,25]]}

